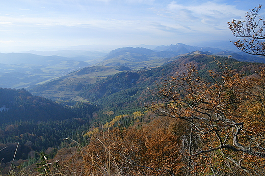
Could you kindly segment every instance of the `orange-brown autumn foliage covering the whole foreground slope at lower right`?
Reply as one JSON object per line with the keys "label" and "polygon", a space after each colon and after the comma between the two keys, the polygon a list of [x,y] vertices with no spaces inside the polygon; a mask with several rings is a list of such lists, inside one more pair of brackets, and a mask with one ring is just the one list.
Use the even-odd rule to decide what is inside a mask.
{"label": "orange-brown autumn foliage covering the whole foreground slope at lower right", "polygon": [[[58,151],[64,175],[264,175],[265,69],[246,76],[218,63],[201,78],[194,65],[157,83],[149,124],[124,128],[117,116],[86,146]],[[115,121],[115,123],[114,123]],[[72,151],[71,151],[72,150]],[[71,154],[71,155],[70,155]],[[63,157],[62,157],[63,156]],[[58,167],[59,168],[59,167]],[[60,172],[59,172],[60,171]]]}

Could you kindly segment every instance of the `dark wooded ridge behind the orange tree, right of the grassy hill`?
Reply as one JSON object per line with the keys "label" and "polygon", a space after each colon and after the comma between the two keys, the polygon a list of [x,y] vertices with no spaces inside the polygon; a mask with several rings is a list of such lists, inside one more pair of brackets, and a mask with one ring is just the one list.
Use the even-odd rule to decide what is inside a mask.
{"label": "dark wooded ridge behind the orange tree, right of the grassy hill", "polygon": [[177,57],[175,61],[161,67],[121,72],[94,84],[84,84],[80,96],[89,102],[99,103],[108,108],[137,107],[136,104],[141,106],[151,100],[150,94],[146,92],[147,87],[154,87],[155,81],[160,81],[161,78],[167,79],[168,76],[183,73],[186,70],[185,64],[195,64],[200,75],[208,79],[208,70],[221,72],[218,62],[225,63],[229,69],[235,69],[247,75],[254,74],[255,70],[261,67],[258,63],[239,62],[228,57],[207,54],[187,55]]}

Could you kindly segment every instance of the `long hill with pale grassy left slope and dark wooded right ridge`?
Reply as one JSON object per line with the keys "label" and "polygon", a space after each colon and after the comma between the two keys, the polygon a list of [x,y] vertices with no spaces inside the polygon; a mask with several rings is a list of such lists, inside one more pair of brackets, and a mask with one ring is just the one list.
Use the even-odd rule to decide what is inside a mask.
{"label": "long hill with pale grassy left slope and dark wooded right ridge", "polygon": [[[182,72],[184,70],[183,65],[189,62],[195,63],[200,72],[206,74],[208,69],[217,67],[213,60],[214,57],[202,51],[195,51],[161,60],[164,61],[160,63],[162,66],[140,70],[119,70],[118,67],[111,66],[87,67],[60,79],[36,86],[31,92],[34,95],[45,96],[53,100],[72,99],[87,100],[89,102],[110,102],[111,100],[107,101],[105,99],[125,90],[138,89],[139,87],[139,89],[144,89],[143,87],[152,85],[162,75],[175,75],[176,72]],[[257,63],[240,62],[231,57],[229,59],[223,56],[219,58],[222,62],[229,62],[231,68],[239,70],[246,67],[246,65],[259,65]]]}

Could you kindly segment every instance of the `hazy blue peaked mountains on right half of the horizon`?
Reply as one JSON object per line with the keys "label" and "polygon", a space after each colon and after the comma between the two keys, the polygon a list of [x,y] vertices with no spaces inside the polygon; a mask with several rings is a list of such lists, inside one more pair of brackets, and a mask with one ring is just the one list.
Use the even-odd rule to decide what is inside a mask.
{"label": "hazy blue peaked mountains on right half of the horizon", "polygon": [[[160,66],[161,63],[170,62],[169,58],[172,58],[177,55],[183,55],[183,54],[185,55],[194,51],[201,51],[205,54],[214,54],[222,56],[231,55],[233,58],[239,61],[265,63],[263,57],[246,54],[241,51],[238,52],[233,52],[228,50],[224,51],[219,48],[197,47],[197,46],[190,46],[182,43],[177,43],[176,45],[157,46],[153,50],[142,47],[118,48],[111,51],[109,54],[105,55],[102,58],[102,62],[98,63],[97,65],[104,65],[104,66],[122,65],[129,67],[131,69],[153,67],[155,65]],[[167,60],[165,60],[165,58],[167,58]]]}

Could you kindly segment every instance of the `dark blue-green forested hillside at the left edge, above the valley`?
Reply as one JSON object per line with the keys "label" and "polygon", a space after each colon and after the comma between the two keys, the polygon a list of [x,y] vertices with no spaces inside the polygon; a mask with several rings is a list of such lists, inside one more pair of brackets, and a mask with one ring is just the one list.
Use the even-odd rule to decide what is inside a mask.
{"label": "dark blue-green forested hillside at the left edge, above the valley", "polygon": [[[44,121],[66,120],[72,118],[70,110],[43,97],[31,95],[28,91],[0,89],[0,106],[7,109],[2,110],[1,122],[10,121]],[[12,118],[11,118],[12,117]]]}

